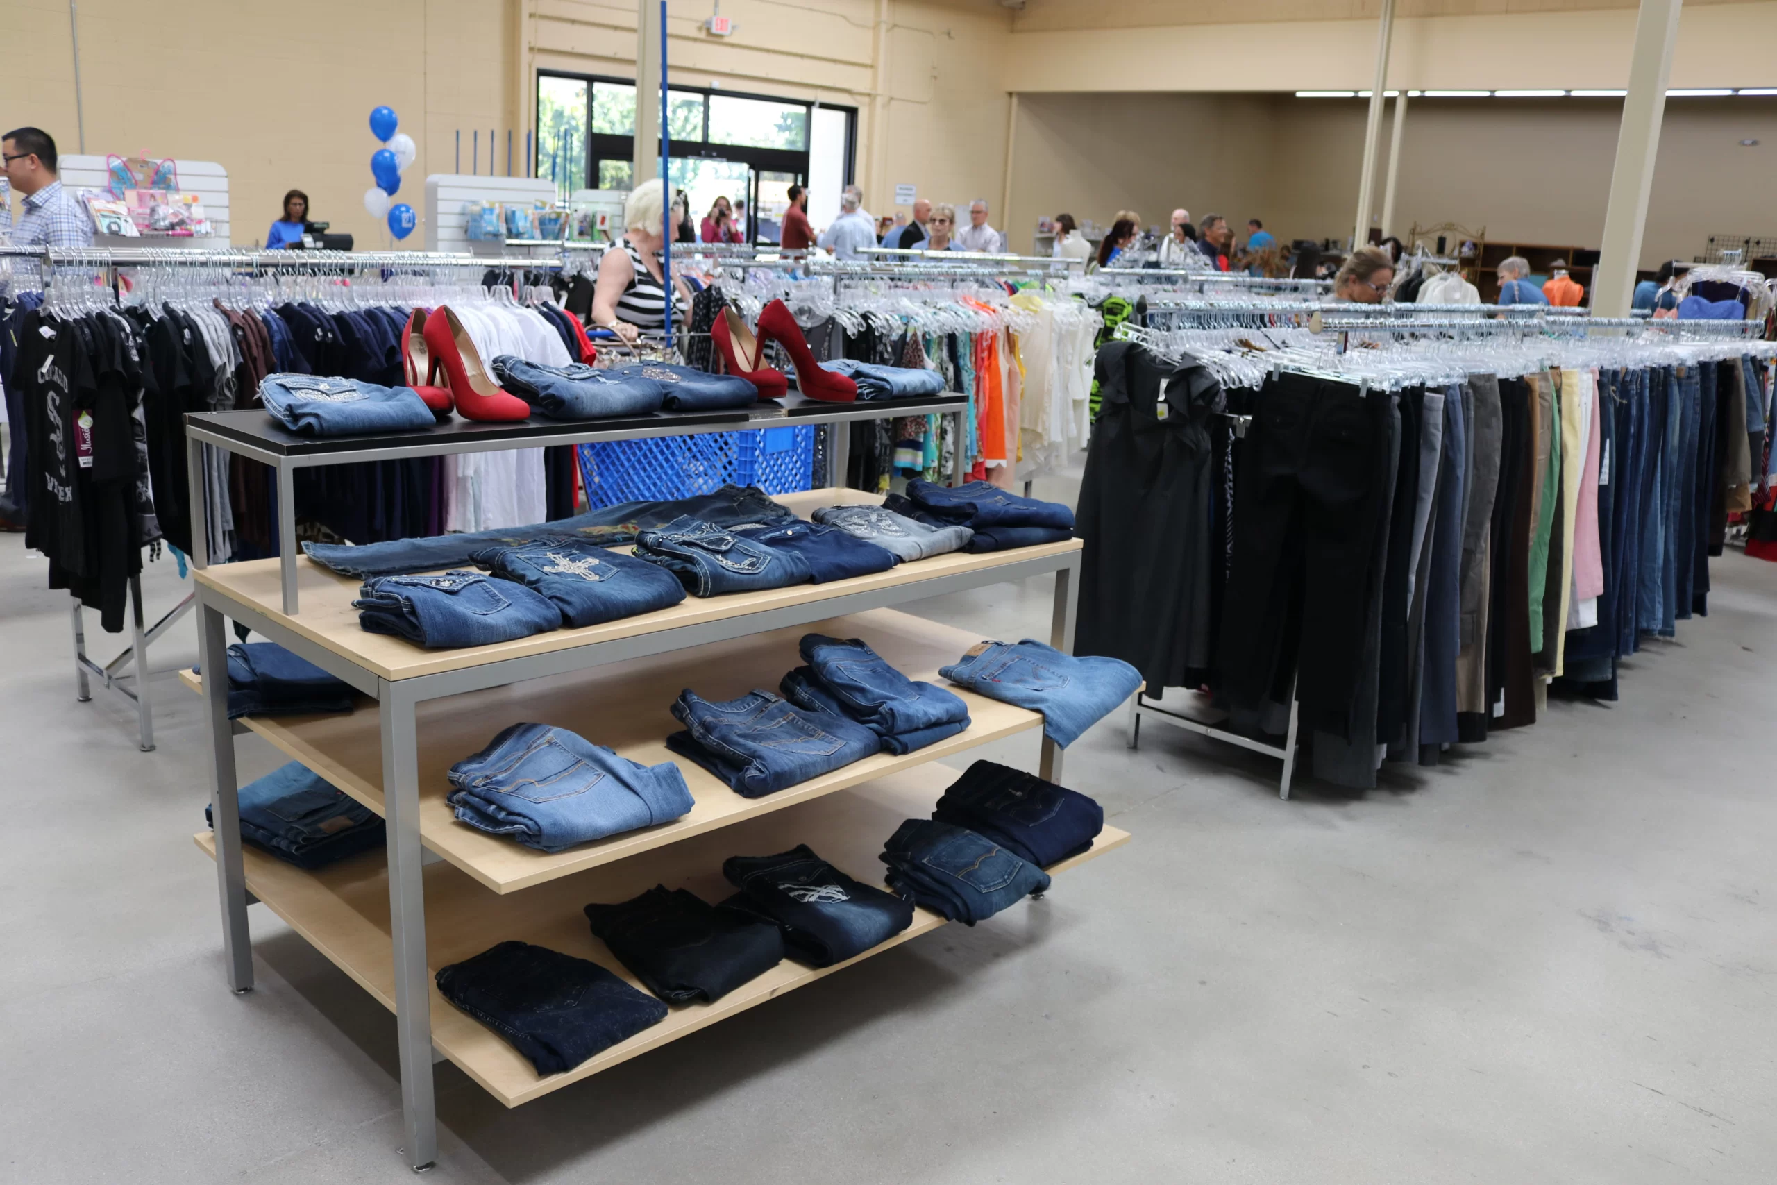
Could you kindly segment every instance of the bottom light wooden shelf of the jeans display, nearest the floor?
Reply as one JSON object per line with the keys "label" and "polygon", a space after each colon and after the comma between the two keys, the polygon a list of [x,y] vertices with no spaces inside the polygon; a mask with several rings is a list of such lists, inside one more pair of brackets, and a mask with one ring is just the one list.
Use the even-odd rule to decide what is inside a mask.
{"label": "bottom light wooden shelf of the jeans display, nearest the floor", "polygon": [[[750,819],[721,833],[700,835],[656,853],[647,860],[624,860],[570,879],[558,879],[522,899],[494,897],[451,865],[425,871],[426,966],[457,963],[508,938],[519,938],[565,954],[594,959],[640,986],[592,936],[581,906],[592,901],[627,901],[666,885],[689,888],[705,901],[721,901],[732,888],[721,878],[721,862],[732,855],[766,855],[809,844],[835,867],[860,881],[878,885],[878,853],[894,828],[908,817],[926,817],[938,794],[956,778],[954,769],[926,764],[869,785],[807,801],[791,810]],[[199,831],[195,842],[215,856],[215,842]],[[1050,872],[1063,872],[1128,842],[1128,833],[1107,826],[1096,844],[1063,860]],[[394,965],[389,949],[389,885],[380,853],[364,853],[322,872],[306,872],[245,846],[247,890],[272,913],[309,940],[384,1007],[394,1007]],[[1015,906],[1027,908],[1027,906]],[[1041,908],[1041,906],[1038,906]],[[992,926],[993,922],[986,922]],[[809,968],[785,959],[714,1004],[675,1007],[661,1023],[615,1045],[569,1073],[540,1078],[531,1064],[480,1022],[432,993],[432,1043],[506,1107],[530,1101],[570,1082],[675,1041],[755,1004],[784,995],[871,954],[944,926],[944,919],[917,910],[913,924],[857,959],[828,968]],[[426,977],[430,981],[430,975]]]}

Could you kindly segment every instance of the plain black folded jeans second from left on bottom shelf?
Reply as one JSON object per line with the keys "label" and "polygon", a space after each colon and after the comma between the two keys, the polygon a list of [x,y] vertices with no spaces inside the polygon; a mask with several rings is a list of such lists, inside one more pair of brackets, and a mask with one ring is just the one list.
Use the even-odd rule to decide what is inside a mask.
{"label": "plain black folded jeans second from left on bottom shelf", "polygon": [[720,1000],[784,959],[777,926],[656,885],[617,904],[588,904],[592,933],[668,1004]]}

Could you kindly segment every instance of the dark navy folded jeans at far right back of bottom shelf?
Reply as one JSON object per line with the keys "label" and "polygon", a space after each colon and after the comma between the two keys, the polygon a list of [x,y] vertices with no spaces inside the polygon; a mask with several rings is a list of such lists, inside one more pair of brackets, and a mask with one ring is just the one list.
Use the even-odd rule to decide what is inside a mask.
{"label": "dark navy folded jeans at far right back of bottom shelf", "polygon": [[931,817],[968,828],[1040,869],[1088,851],[1105,826],[1105,808],[1091,798],[992,760],[972,764]]}

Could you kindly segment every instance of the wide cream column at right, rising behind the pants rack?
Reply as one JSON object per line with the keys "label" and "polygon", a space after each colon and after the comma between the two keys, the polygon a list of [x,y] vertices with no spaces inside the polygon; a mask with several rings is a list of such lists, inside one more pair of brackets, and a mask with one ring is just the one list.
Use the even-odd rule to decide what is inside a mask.
{"label": "wide cream column at right, rising behind the pants rack", "polygon": [[1642,258],[1647,194],[1654,185],[1654,158],[1660,155],[1660,121],[1665,117],[1677,16],[1679,0],[1642,0],[1635,21],[1630,92],[1622,99],[1617,167],[1610,174],[1610,204],[1605,208],[1605,243],[1592,281],[1594,316],[1628,316],[1635,297],[1635,268]]}

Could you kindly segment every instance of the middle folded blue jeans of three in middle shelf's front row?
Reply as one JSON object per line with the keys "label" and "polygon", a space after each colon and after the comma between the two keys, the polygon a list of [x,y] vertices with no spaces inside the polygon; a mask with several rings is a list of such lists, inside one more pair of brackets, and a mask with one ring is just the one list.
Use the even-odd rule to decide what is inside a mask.
{"label": "middle folded blue jeans of three in middle shelf's front row", "polygon": [[803,711],[757,688],[725,704],[686,689],[673,700],[672,714],[684,732],[670,734],[666,748],[746,798],[775,794],[881,748],[864,725],[832,712]]}

